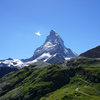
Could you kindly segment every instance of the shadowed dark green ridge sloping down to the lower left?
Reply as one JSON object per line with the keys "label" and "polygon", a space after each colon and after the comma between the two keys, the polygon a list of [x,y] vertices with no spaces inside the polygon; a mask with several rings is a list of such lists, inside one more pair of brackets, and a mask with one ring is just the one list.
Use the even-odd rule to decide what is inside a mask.
{"label": "shadowed dark green ridge sloping down to the lower left", "polygon": [[68,83],[73,75],[73,69],[57,65],[38,69],[26,67],[0,80],[0,99],[39,100]]}

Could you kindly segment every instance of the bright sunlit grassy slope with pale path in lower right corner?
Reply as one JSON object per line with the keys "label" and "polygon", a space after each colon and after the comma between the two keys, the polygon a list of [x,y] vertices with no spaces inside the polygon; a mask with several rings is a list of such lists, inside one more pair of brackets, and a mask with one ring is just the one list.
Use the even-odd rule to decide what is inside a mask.
{"label": "bright sunlit grassy slope with pale path in lower right corner", "polygon": [[91,83],[76,75],[69,84],[46,94],[41,100],[100,100],[100,83]]}

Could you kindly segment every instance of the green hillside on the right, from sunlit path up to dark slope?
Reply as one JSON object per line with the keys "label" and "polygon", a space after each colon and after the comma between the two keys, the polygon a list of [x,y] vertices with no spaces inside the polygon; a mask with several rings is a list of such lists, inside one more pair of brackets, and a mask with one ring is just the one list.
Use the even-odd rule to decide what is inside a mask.
{"label": "green hillside on the right, from sunlit path up to dark slope", "polygon": [[70,82],[40,100],[99,100],[100,60],[78,58],[70,60],[69,66],[76,68]]}

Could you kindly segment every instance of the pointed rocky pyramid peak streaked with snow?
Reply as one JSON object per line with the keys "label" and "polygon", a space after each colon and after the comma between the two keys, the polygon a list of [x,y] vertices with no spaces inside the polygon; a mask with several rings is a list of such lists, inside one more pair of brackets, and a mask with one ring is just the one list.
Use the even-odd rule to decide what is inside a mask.
{"label": "pointed rocky pyramid peak streaked with snow", "polygon": [[61,37],[54,30],[51,30],[45,43],[35,50],[34,55],[30,59],[42,60],[53,64],[76,56],[71,49],[64,46],[64,41]]}

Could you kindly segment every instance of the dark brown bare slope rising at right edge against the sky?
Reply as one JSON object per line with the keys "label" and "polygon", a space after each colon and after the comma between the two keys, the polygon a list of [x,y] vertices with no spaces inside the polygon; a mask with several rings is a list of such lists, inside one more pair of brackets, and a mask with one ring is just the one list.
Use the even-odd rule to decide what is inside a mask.
{"label": "dark brown bare slope rising at right edge against the sky", "polygon": [[80,56],[88,58],[100,58],[100,46],[86,51],[85,53],[80,54]]}

